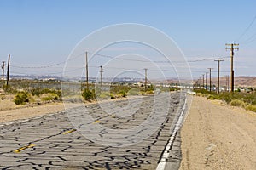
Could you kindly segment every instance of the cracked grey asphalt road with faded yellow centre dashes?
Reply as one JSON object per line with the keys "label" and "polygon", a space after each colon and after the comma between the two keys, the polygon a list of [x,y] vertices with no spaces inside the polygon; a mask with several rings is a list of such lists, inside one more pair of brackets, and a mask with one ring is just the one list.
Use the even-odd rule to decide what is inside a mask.
{"label": "cracked grey asphalt road with faded yellow centre dashes", "polygon": [[[155,105],[159,105],[160,110],[166,110],[166,116],[163,117],[164,121],[160,126],[152,131],[150,127],[154,127],[154,121],[149,122],[148,126],[143,126],[143,130],[149,129],[152,134],[144,138],[143,130],[138,131],[137,134],[142,135],[142,139],[132,139],[134,143],[127,139],[124,144],[115,145],[115,141],[119,142],[119,139],[109,137],[106,143],[102,144],[102,141],[97,142],[97,138],[92,139],[91,134],[86,138],[82,129],[76,128],[70,121],[72,119],[70,113],[83,117],[82,106],[28,120],[1,124],[0,168],[156,169],[183,109],[185,95],[179,92],[170,94],[169,106],[166,106],[165,102],[161,105],[161,99],[164,100],[166,96],[160,96],[157,99],[159,102],[155,103],[155,95],[139,98],[140,105],[136,105],[138,109],[130,116],[110,115],[99,104],[86,106],[86,110],[90,110],[89,113],[94,119],[91,124],[115,129],[117,132],[143,124],[148,120],[148,116],[152,116],[150,113],[154,111]],[[129,100],[131,104],[136,104],[138,99]],[[109,104],[114,102],[120,107],[127,105],[127,99],[108,102]],[[95,135],[100,138],[104,133],[106,131],[102,130]],[[173,169],[177,169],[181,161],[179,144],[177,133],[170,156],[166,159]]]}

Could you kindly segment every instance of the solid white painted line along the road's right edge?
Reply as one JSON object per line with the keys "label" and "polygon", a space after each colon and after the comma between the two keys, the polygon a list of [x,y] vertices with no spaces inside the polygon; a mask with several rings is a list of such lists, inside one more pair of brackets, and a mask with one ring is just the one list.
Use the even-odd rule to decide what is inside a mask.
{"label": "solid white painted line along the road's right edge", "polygon": [[165,151],[160,159],[160,163],[156,167],[156,170],[164,170],[166,168],[166,160],[170,156],[170,150],[172,149],[171,146],[172,146],[174,139],[177,135],[177,131],[180,129],[180,127],[182,126],[182,123],[183,123],[183,114],[184,114],[184,111],[185,111],[186,105],[187,105],[187,95],[185,95],[185,97],[186,98],[185,98],[185,102],[183,105],[183,110],[181,111],[181,114],[178,117],[177,123],[172,132],[172,136],[170,137],[169,143],[166,145]]}

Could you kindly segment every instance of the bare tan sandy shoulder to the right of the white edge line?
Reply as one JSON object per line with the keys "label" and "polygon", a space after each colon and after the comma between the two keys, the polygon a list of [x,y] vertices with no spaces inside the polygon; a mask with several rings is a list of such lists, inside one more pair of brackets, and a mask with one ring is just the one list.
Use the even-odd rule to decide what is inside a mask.
{"label": "bare tan sandy shoulder to the right of the white edge line", "polygon": [[256,169],[256,114],[195,96],[181,130],[180,169]]}

